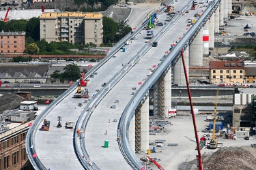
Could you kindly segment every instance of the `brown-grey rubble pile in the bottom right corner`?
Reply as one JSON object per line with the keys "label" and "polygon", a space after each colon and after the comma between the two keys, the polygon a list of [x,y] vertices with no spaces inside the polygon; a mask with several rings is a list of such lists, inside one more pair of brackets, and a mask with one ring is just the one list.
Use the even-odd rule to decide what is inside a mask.
{"label": "brown-grey rubble pile in the bottom right corner", "polygon": [[256,165],[256,148],[223,147],[203,159],[203,169],[228,170],[244,169],[253,170]]}

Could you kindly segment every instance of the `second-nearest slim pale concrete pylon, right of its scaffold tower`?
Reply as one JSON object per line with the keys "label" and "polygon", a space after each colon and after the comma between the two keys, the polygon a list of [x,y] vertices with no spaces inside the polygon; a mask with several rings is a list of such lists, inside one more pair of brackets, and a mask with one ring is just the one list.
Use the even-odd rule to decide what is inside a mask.
{"label": "second-nearest slim pale concrete pylon, right of its scaffold tower", "polygon": [[[180,86],[182,86],[180,84]],[[171,109],[171,68],[165,75],[165,117],[168,117],[168,109]]]}

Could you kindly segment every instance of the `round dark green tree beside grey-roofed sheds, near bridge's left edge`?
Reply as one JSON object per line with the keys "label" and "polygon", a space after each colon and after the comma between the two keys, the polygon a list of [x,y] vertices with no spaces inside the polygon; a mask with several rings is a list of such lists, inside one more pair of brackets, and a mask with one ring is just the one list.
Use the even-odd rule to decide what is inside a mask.
{"label": "round dark green tree beside grey-roofed sheds, near bridge's left edge", "polygon": [[80,69],[77,65],[66,65],[64,67],[65,72],[63,73],[63,78],[70,81],[76,81],[81,78]]}

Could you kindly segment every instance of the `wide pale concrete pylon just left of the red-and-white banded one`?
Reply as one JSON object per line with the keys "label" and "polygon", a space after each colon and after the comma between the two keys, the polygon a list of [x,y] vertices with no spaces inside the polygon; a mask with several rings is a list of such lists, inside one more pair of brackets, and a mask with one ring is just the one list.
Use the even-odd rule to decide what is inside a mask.
{"label": "wide pale concrete pylon just left of the red-and-white banded one", "polygon": [[203,66],[203,30],[200,30],[189,47],[189,66]]}

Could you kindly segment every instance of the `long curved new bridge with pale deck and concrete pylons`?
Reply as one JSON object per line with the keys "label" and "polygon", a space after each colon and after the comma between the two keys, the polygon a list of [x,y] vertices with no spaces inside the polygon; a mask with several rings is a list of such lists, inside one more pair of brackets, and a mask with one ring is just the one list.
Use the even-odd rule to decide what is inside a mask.
{"label": "long curved new bridge with pale deck and concrete pylons", "polygon": [[[155,114],[165,117],[171,108],[172,79],[175,84],[185,82],[180,49],[185,50],[187,66],[200,66],[203,54],[213,46],[214,31],[218,31],[227,9],[231,9],[231,1],[215,0],[185,13],[192,1],[172,2],[179,12],[169,22],[165,21],[167,14],[158,12],[158,21],[166,24],[152,29],[151,41],[145,39],[145,22],[87,73],[90,100],[73,98],[76,83],[35,119],[26,141],[27,154],[35,169],[143,168],[135,153],[149,148],[150,88],[156,89]],[[200,17],[193,27],[188,27],[186,20],[195,18],[195,14]],[[120,50],[132,37],[126,51]],[[158,41],[157,47],[152,47],[153,41]],[[169,51],[173,42],[175,48]],[[94,78],[89,78],[91,74]],[[60,117],[63,126],[57,128]],[[49,131],[40,131],[44,119],[51,121]],[[69,120],[76,122],[74,129],[65,129]],[[104,146],[106,141],[108,146]]]}

